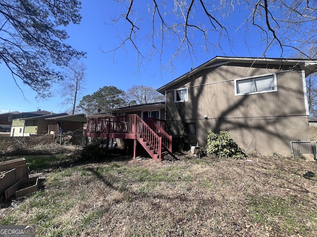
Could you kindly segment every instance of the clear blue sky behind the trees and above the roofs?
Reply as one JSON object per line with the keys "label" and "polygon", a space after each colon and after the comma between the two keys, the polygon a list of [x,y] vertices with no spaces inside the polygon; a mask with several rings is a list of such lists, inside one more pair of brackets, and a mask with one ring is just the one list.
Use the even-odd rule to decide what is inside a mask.
{"label": "clear blue sky behind the trees and above the roofs", "polygon": [[[122,7],[122,6],[121,6]],[[140,6],[141,7],[141,6]],[[146,6],[142,6],[146,10]],[[122,8],[121,8],[122,10]],[[86,78],[87,82],[83,95],[92,94],[99,88],[105,85],[113,85],[119,89],[127,90],[133,85],[145,85],[159,88],[184,73],[195,68],[214,56],[223,56],[224,53],[220,49],[211,50],[209,54],[198,52],[193,61],[189,58],[178,58],[174,61],[174,71],[161,71],[159,55],[151,58],[151,61],[143,61],[143,66],[138,72],[136,62],[137,53],[127,45],[127,50],[119,49],[114,57],[112,54],[106,54],[103,51],[109,51],[118,46],[119,40],[117,34],[125,34],[125,30],[130,28],[129,24],[111,25],[109,16],[118,16],[120,13],[120,5],[113,0],[89,0],[82,2],[82,22],[80,25],[69,25],[66,28],[70,39],[67,43],[72,45],[79,51],[87,52],[87,57],[83,59],[83,63],[87,67]],[[237,11],[232,16],[231,22],[240,20],[243,17],[243,12]],[[235,19],[236,18],[236,19]],[[144,19],[143,27],[151,23],[150,19]],[[235,31],[234,27],[229,28],[230,31]],[[245,46],[244,27],[234,35],[235,45],[232,49],[223,47],[228,56],[243,56],[243,57],[258,57],[261,55],[261,42],[257,40],[256,35],[252,39],[250,48]],[[201,36],[197,36],[201,37]],[[232,40],[232,39],[231,39]],[[224,43],[225,45],[225,43]],[[171,47],[172,49],[174,45]],[[101,50],[102,49],[102,50]],[[163,60],[171,56],[171,51],[165,47],[163,51]],[[278,57],[279,52],[270,51],[266,55],[268,57]],[[5,68],[4,64],[0,64],[1,74],[1,92],[0,92],[0,113],[8,111],[31,112],[38,109],[53,111],[53,113],[63,113],[64,108],[61,107],[63,98],[58,95],[59,87],[55,85],[52,89],[56,96],[46,101],[36,101],[36,93],[24,86],[20,81],[17,81],[24,92],[24,96],[20,89],[15,84],[12,76]]]}

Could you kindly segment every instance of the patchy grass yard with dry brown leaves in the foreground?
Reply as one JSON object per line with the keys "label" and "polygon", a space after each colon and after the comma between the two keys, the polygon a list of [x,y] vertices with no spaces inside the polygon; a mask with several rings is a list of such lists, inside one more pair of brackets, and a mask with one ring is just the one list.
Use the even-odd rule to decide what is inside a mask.
{"label": "patchy grass yard with dry brown leaves in the foreground", "polygon": [[36,225],[39,237],[317,236],[317,178],[304,177],[316,162],[23,157],[41,190],[2,201],[0,225]]}

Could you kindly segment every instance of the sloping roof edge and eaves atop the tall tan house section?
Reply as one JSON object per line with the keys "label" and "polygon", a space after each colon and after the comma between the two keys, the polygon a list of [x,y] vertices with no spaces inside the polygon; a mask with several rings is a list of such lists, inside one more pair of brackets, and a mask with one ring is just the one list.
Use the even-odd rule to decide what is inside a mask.
{"label": "sloping roof edge and eaves atop the tall tan house section", "polygon": [[296,59],[296,58],[255,58],[255,57],[222,57],[215,56],[211,60],[206,63],[198,66],[197,68],[189,71],[183,76],[170,81],[169,83],[163,85],[158,89],[161,94],[165,94],[165,90],[170,86],[175,85],[176,83],[182,81],[194,75],[204,69],[208,68],[216,68],[222,65],[235,65],[235,64],[248,64],[250,66],[254,64],[262,64],[262,65],[284,65],[290,66],[294,69],[301,68],[305,71],[306,77],[310,74],[317,72],[317,59]]}

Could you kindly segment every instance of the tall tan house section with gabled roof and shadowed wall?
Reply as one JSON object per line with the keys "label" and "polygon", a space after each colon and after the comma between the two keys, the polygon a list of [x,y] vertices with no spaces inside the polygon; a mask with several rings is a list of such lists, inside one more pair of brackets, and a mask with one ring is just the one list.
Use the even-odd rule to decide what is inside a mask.
{"label": "tall tan house section with gabled roof and shadowed wall", "polygon": [[317,61],[216,56],[160,87],[173,135],[206,145],[209,131],[229,131],[245,152],[291,155],[309,141],[305,79]]}

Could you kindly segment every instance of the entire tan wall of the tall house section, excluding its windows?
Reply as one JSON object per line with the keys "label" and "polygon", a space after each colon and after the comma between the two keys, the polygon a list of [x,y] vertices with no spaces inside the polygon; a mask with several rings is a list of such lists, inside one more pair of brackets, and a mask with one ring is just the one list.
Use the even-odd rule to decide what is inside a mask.
{"label": "entire tan wall of the tall house section, excluding its windows", "polygon": [[[196,139],[203,145],[209,130],[227,130],[247,152],[290,155],[290,141],[309,140],[302,72],[277,73],[277,92],[240,96],[234,93],[234,79],[273,72],[277,70],[222,66],[168,88],[166,117],[171,119],[174,134],[182,135],[181,122],[174,121],[179,119],[196,123]],[[188,101],[175,103],[172,89],[185,87]]]}

